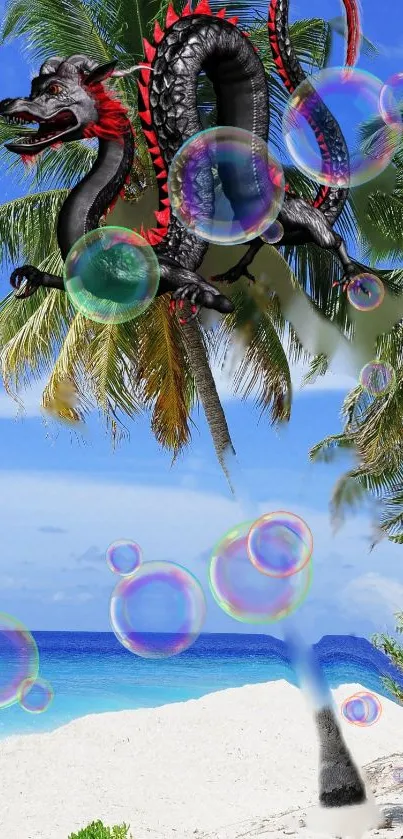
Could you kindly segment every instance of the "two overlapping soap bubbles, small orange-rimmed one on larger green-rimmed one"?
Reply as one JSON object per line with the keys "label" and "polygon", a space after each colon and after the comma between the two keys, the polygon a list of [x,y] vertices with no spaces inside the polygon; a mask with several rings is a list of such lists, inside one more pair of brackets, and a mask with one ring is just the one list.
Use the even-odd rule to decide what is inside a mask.
{"label": "two overlapping soap bubbles, small orange-rimmed one on larger green-rimmed one", "polygon": [[220,608],[245,623],[273,623],[305,599],[312,579],[313,540],[293,513],[243,522],[217,544],[209,584]]}

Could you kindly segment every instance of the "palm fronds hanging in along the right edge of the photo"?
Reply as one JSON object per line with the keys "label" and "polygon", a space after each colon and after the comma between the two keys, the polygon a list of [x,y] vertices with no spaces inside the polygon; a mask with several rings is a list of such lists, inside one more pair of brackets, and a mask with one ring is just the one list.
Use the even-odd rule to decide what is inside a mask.
{"label": "palm fronds hanging in along the right edge of the photo", "polygon": [[[362,248],[365,258],[372,264],[401,258],[402,163],[403,149],[400,148],[393,161],[394,172],[385,173],[383,178],[388,188],[370,193],[366,187],[358,196],[358,214],[366,216],[365,224],[360,228]],[[383,272],[379,273],[382,275]],[[402,276],[401,269],[388,272],[389,281],[397,287],[401,285]],[[333,490],[331,516],[334,524],[339,525],[348,511],[365,501],[372,501],[373,546],[385,535],[392,542],[403,543],[403,307],[400,301],[391,297],[386,301],[384,311],[385,323],[382,323],[383,315],[375,312],[367,317],[366,313],[359,329],[365,326],[367,350],[372,346],[372,357],[382,359],[393,368],[392,386],[383,396],[375,398],[357,385],[343,404],[343,431],[326,437],[310,453],[314,462],[329,462],[345,451],[351,453],[353,466],[341,476]],[[400,320],[390,329],[391,322],[397,317]],[[326,359],[318,358],[312,363],[311,373],[323,374],[326,369]]]}

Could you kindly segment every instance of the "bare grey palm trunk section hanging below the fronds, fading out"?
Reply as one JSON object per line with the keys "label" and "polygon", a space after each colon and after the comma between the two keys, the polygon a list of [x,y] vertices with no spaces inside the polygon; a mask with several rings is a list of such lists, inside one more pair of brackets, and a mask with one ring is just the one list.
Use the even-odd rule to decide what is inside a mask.
{"label": "bare grey palm trunk section hanging below the fronds, fading out", "polygon": [[231,492],[234,492],[228,461],[231,457],[235,457],[235,449],[207,358],[200,326],[196,320],[192,320],[184,323],[182,329],[197,393],[203,405],[217,459],[229,483]]}

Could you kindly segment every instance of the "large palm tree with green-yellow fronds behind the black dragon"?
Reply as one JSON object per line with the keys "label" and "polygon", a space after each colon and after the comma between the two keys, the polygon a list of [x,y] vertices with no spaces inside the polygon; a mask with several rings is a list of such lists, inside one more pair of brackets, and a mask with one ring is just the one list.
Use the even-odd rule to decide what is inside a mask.
{"label": "large palm tree with green-yellow fronds behind the black dragon", "polygon": [[[218,8],[215,0],[212,5]],[[133,58],[142,55],[141,36],[149,35],[155,17],[162,22],[166,6],[165,0],[136,0],[134,5],[128,0],[9,0],[1,37],[4,42],[24,36],[26,52],[35,66],[52,54],[79,52],[101,62],[118,56],[122,65],[131,64]],[[247,7],[241,3],[239,7],[246,27],[250,22]],[[287,94],[274,72],[263,10],[262,18],[250,28],[270,75],[271,139],[276,148],[281,141],[281,114]],[[331,25],[321,20],[300,21],[292,26],[293,43],[308,72],[324,66],[331,38]],[[206,80],[201,80],[201,88],[208,124],[212,107]],[[125,200],[118,202],[108,223],[139,227],[134,219],[140,214],[144,218],[150,209],[154,175],[141,139],[135,82],[130,77],[121,79],[118,89],[137,130],[139,145]],[[11,126],[0,126],[2,144],[14,134]],[[0,205],[3,265],[22,259],[52,273],[61,272],[56,225],[51,219],[56,218],[70,186],[88,171],[94,155],[91,141],[71,143],[57,152],[48,150],[36,170],[26,172],[20,160],[11,158],[4,148],[0,150],[0,165],[17,176],[25,190],[28,188],[24,197]],[[399,171],[403,172],[403,167]],[[312,185],[298,171],[288,169],[287,175],[300,194],[312,194]],[[340,230],[351,238],[354,226],[354,206],[350,202],[340,219]],[[277,252],[269,248],[265,251],[267,271],[270,272],[271,264],[277,270]],[[235,262],[236,253],[236,249],[221,249],[214,257],[216,273],[225,269],[223,259]],[[314,306],[349,334],[351,324],[345,301],[331,288],[339,273],[333,257],[313,246],[287,248],[283,256]],[[295,285],[291,270],[288,275]],[[395,278],[385,278],[393,287]],[[76,314],[67,297],[57,291],[41,289],[25,301],[9,295],[0,305],[0,365],[6,386],[18,390],[27,379],[42,377],[46,371],[50,373],[44,392],[46,406],[54,398],[60,380],[69,377],[80,394],[77,418],[84,416],[95,401],[114,437],[124,433],[124,415],[131,417],[150,409],[157,440],[174,455],[190,439],[190,414],[199,399],[225,471],[225,454],[233,447],[210,360],[225,354],[231,342],[241,335],[246,349],[234,373],[236,389],[247,396],[257,387],[259,406],[262,411],[270,411],[273,422],[288,419],[291,405],[290,371],[283,348],[286,322],[279,298],[275,294],[268,298],[258,288],[248,289],[242,282],[230,293],[237,303],[236,312],[211,333],[194,322],[180,328],[169,316],[165,298],[158,299],[137,321],[104,326]],[[289,359],[296,361],[306,356],[292,328],[288,335]]]}

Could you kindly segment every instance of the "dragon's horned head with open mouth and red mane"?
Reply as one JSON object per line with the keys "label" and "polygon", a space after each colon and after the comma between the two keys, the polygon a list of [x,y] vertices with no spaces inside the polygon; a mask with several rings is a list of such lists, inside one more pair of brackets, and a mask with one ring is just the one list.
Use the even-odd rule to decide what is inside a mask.
{"label": "dragon's horned head with open mouth and red mane", "polygon": [[127,71],[115,70],[117,62],[99,65],[85,55],[49,58],[32,80],[26,98],[3,99],[0,117],[21,125],[37,123],[18,140],[6,143],[9,151],[32,157],[49,146],[99,137],[118,140],[128,130],[126,109],[102,84],[111,76]]}

